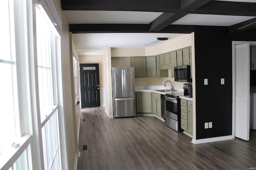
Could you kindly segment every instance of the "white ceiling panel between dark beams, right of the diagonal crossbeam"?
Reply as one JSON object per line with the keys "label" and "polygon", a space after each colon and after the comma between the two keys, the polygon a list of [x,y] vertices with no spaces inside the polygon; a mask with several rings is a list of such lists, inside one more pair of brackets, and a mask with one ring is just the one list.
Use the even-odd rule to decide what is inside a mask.
{"label": "white ceiling panel between dark beams, right of the diagonal crossbeam", "polygon": [[224,16],[206,14],[188,14],[172,24],[176,25],[210,25],[210,26],[230,26],[246,20],[255,18],[254,16]]}

